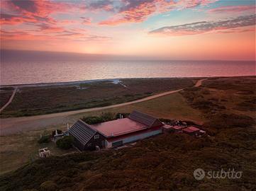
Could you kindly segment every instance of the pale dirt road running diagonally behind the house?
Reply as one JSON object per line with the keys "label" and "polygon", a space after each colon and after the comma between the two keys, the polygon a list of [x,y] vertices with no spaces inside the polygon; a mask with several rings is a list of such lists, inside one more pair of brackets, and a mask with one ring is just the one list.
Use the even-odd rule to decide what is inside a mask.
{"label": "pale dirt road running diagonally behind the house", "polygon": [[[201,86],[202,81],[205,79],[201,79],[196,82],[194,85],[195,87]],[[142,98],[140,100],[134,100],[127,103],[121,103],[116,105],[108,105],[101,108],[89,108],[84,110],[74,110],[68,112],[58,112],[52,113],[48,115],[35,115],[30,117],[9,117],[5,119],[0,119],[0,135],[7,135],[7,134],[15,134],[18,132],[23,132],[27,130],[33,129],[41,129],[43,127],[48,127],[52,125],[65,125],[67,122],[70,122],[68,118],[69,115],[74,115],[82,112],[91,112],[96,110],[104,110],[109,108],[117,108],[125,105],[130,105],[134,103],[140,103],[146,100],[152,100],[155,98],[159,98],[162,96],[167,96],[171,93],[176,93],[182,91],[183,89],[175,90],[175,91],[167,91],[165,93],[160,93],[154,96],[149,96],[147,98]]]}

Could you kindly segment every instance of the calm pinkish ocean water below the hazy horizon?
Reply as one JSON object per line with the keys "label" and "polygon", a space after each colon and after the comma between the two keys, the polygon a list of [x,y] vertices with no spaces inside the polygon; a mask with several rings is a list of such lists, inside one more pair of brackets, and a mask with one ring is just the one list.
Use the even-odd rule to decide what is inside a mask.
{"label": "calm pinkish ocean water below the hazy horizon", "polygon": [[1,85],[91,79],[254,76],[255,62],[233,61],[74,61],[2,62]]}

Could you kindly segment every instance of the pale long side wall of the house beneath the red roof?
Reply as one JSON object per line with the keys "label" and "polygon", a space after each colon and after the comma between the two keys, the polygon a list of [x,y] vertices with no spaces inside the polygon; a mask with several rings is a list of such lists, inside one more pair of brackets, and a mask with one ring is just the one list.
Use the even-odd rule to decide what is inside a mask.
{"label": "pale long side wall of the house beneath the red roof", "polygon": [[129,142],[133,142],[133,141],[138,141],[140,139],[145,139],[147,137],[151,137],[157,134],[161,134],[162,133],[162,129],[157,129],[155,131],[152,132],[145,132],[145,133],[141,133],[141,134],[135,134],[133,136],[130,137],[124,137],[123,139],[116,139],[115,141],[106,141],[106,147],[107,148],[111,148],[112,144],[117,142],[117,141],[123,141],[123,144],[127,144]]}

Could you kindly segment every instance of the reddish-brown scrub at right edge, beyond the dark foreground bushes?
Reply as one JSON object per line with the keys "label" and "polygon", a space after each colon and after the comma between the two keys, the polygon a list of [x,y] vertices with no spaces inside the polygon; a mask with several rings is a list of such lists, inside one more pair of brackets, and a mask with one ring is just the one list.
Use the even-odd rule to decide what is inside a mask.
{"label": "reddish-brown scrub at right edge, beyond the dark foreground bushes", "polygon": [[255,77],[208,79],[203,86],[185,88],[181,94],[192,108],[204,112],[206,118],[227,112],[252,117],[256,110],[255,84]]}

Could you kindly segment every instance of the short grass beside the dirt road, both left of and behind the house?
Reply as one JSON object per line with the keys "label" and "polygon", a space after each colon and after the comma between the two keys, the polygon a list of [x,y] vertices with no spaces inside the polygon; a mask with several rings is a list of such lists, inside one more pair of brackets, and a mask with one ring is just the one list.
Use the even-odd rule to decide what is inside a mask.
{"label": "short grass beside the dirt road, both left of and behind the house", "polygon": [[[78,118],[87,116],[99,116],[102,112],[132,112],[133,110],[140,110],[148,114],[177,120],[190,120],[201,124],[203,122],[202,114],[200,111],[195,110],[186,103],[185,98],[179,93],[174,93],[169,96],[156,98],[154,100],[148,100],[142,103],[136,103],[133,105],[126,105],[120,108],[112,108],[108,110],[101,110],[97,112],[86,112],[79,115],[69,116],[71,121]],[[65,129],[65,125],[58,125],[56,128]],[[48,128],[48,132],[54,127]],[[55,154],[60,151],[56,150],[54,144],[40,145],[37,143],[40,134],[45,130],[37,130],[30,132],[23,132],[22,134],[13,134],[11,136],[0,137],[0,163],[1,173],[14,170],[30,161],[30,158],[36,158],[38,155],[38,149],[43,146],[47,146]],[[53,150],[52,150],[53,149]]]}

